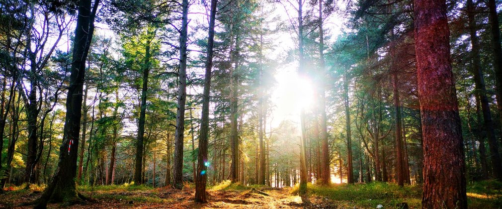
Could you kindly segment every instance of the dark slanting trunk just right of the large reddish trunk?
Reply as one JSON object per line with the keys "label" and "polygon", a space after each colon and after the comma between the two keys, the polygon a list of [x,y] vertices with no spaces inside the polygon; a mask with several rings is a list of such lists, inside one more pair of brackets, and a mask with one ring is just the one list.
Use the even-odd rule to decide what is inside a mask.
{"label": "dark slanting trunk just right of the large reddish trunk", "polygon": [[[476,22],[475,22],[475,10],[472,0],[467,0],[467,17],[469,24],[469,35],[471,40],[471,54],[473,58],[472,74],[474,75],[474,85],[475,92],[481,103],[481,111],[483,113],[483,126],[479,124],[479,127],[483,127],[488,139],[488,145],[490,147],[491,163],[493,167],[493,175],[495,178],[502,180],[502,161],[500,160],[500,152],[498,150],[498,142],[495,138],[495,129],[493,126],[493,120],[491,119],[490,104],[486,96],[486,87],[484,84],[483,70],[481,69],[481,59],[479,57],[479,41],[476,35]],[[498,22],[498,21],[497,21]],[[498,26],[497,26],[498,28]],[[497,32],[498,34],[498,32]],[[498,42],[498,47],[500,49],[500,42]],[[495,69],[496,70],[496,69]]]}

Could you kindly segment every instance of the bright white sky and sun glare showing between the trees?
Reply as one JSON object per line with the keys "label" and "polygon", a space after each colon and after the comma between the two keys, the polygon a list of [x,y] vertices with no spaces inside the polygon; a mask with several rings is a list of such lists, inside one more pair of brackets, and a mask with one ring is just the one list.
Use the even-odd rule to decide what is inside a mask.
{"label": "bright white sky and sun glare showing between the trees", "polygon": [[[291,0],[295,2],[295,0]],[[267,3],[266,11],[273,11],[269,18],[278,17],[279,21],[274,21],[269,24],[271,29],[275,29],[278,27],[279,23],[289,24],[291,22],[289,18],[296,20],[297,13],[293,10],[293,8],[285,8],[281,4],[278,3]],[[342,8],[343,9],[343,8]],[[288,11],[289,14],[288,14]],[[193,4],[189,9],[189,33],[190,30],[194,30],[194,27],[199,24],[207,24],[207,17],[204,15],[206,10],[198,4]],[[317,14],[315,12],[314,14]],[[333,13],[331,14],[324,22],[324,31],[325,37],[328,37],[325,40],[325,45],[329,46],[333,43],[336,37],[341,34],[341,30],[343,27],[344,18],[342,18],[339,14]],[[72,25],[75,24],[75,21],[72,22]],[[70,26],[70,28],[74,28],[74,26]],[[113,31],[111,31],[108,25],[105,23],[97,23],[96,24],[96,34],[117,40],[116,35]],[[70,30],[71,31],[71,30]],[[205,33],[194,34],[194,36],[205,36]],[[62,51],[67,51],[69,49],[69,35],[62,37],[61,41],[58,44],[58,48]],[[294,31],[281,31],[277,34],[274,34],[272,37],[274,42],[274,47],[268,49],[266,54],[268,54],[270,59],[280,59],[281,56],[284,56],[288,53],[288,51],[295,50],[297,46],[297,35]],[[195,40],[196,37],[192,37],[192,40]],[[119,47],[118,41],[115,42],[115,48]],[[189,49],[194,49],[194,46],[189,46]],[[118,56],[118,55],[116,55]],[[190,52],[191,57],[198,56],[197,52]],[[190,73],[191,69],[188,69]],[[197,69],[196,69],[197,70]],[[200,69],[198,69],[200,70]],[[268,128],[277,128],[281,124],[282,121],[290,120],[296,124],[300,121],[300,111],[302,107],[307,107],[312,104],[312,94],[313,88],[312,84],[309,80],[302,78],[297,73],[298,70],[298,62],[292,62],[286,65],[279,65],[279,68],[275,69],[276,74],[276,86],[273,88],[271,94],[272,100],[272,113],[269,115],[269,119],[267,120],[270,124],[267,125]],[[196,89],[191,86],[188,86],[187,92],[189,93],[201,93],[201,89]],[[63,108],[63,107],[60,107]],[[200,114],[200,113],[199,113]],[[134,124],[130,124],[130,130],[135,130],[136,126]],[[270,131],[270,130],[267,130]]]}

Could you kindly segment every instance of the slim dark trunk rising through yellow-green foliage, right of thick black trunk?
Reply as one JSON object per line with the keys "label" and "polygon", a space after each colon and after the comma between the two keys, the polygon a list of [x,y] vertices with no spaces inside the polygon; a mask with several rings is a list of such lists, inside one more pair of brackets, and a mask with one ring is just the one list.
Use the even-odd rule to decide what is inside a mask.
{"label": "slim dark trunk rising through yellow-green foliage, right of thick black trunk", "polygon": [[[150,31],[147,32],[150,35]],[[143,171],[143,146],[145,139],[145,117],[147,112],[147,94],[148,94],[148,75],[150,73],[150,43],[151,37],[147,38],[147,43],[145,47],[145,65],[143,67],[143,86],[141,89],[141,110],[140,119],[138,122],[138,138],[136,141],[136,159],[135,159],[135,169],[134,169],[134,183],[136,185],[142,184],[142,171]]]}

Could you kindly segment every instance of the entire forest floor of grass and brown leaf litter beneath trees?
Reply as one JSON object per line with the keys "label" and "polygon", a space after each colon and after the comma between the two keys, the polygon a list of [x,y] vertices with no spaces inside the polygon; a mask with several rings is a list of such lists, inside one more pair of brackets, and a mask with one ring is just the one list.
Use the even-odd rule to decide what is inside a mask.
{"label": "entire forest floor of grass and brown leaf litter beneath trees", "polygon": [[[31,208],[20,206],[40,196],[43,188],[9,187],[0,194],[0,208]],[[79,186],[92,201],[71,208],[399,208],[406,202],[410,208],[421,207],[420,186],[399,187],[393,183],[309,185],[307,195],[296,194],[297,187],[270,188],[243,186],[225,181],[208,188],[208,203],[195,203],[194,188],[152,188],[135,185]],[[502,207],[502,183],[481,181],[467,186],[469,208]],[[60,207],[50,203],[49,208]]]}

